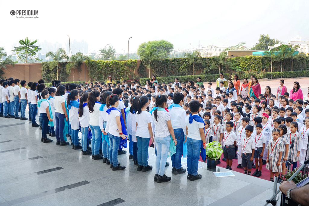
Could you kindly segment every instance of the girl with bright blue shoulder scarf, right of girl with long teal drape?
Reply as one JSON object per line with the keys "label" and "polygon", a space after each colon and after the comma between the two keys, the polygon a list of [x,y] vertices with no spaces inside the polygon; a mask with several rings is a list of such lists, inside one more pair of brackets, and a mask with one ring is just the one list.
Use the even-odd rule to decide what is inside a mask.
{"label": "girl with bright blue shoulder scarf, right of girl with long teal drape", "polygon": [[79,120],[78,120],[78,107],[77,101],[79,97],[78,90],[71,90],[68,94],[67,105],[69,109],[69,121],[71,124],[71,136],[72,136],[72,149],[82,149],[81,144],[78,142]]}

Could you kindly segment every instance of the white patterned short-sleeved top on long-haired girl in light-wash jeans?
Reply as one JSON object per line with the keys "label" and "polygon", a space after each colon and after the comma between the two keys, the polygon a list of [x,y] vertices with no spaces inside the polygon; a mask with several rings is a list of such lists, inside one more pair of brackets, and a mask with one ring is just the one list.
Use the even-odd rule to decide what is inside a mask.
{"label": "white patterned short-sleeved top on long-haired girl in light-wash jeans", "polygon": [[167,137],[170,138],[170,132],[168,131],[167,122],[171,120],[171,114],[167,111],[158,111],[157,120],[155,120],[154,112],[152,112],[152,120],[155,124],[155,137]]}

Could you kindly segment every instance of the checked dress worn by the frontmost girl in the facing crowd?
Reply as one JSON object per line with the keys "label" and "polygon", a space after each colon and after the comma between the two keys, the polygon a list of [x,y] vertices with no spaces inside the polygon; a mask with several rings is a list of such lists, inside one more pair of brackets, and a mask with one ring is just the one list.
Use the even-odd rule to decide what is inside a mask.
{"label": "checked dress worn by the frontmost girl in the facing crowd", "polygon": [[277,166],[280,152],[283,151],[283,143],[280,138],[278,138],[277,141],[269,141],[267,149],[269,151],[269,156],[268,163],[266,163],[266,169],[271,170],[272,172],[282,172],[282,164]]}

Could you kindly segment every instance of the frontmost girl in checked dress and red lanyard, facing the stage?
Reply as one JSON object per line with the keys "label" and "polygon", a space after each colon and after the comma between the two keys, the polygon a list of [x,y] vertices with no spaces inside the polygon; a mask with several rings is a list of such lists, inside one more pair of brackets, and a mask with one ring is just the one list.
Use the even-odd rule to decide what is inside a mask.
{"label": "frontmost girl in checked dress and red lanyard, facing the stage", "polygon": [[266,169],[270,170],[270,181],[273,182],[273,175],[278,176],[282,172],[281,157],[283,151],[282,141],[280,140],[280,130],[273,129],[273,139],[267,145]]}

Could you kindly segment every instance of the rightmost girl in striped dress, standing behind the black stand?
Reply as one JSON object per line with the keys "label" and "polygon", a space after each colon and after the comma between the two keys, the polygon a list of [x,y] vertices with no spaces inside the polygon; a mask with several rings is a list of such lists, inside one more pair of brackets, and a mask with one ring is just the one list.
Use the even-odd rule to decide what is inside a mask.
{"label": "rightmost girl in striped dress, standing behind the black stand", "polygon": [[297,167],[297,161],[299,161],[299,154],[300,154],[300,145],[302,144],[301,135],[297,132],[298,130],[298,123],[291,122],[290,124],[290,131],[288,135],[288,139],[290,141],[290,149],[289,149],[289,160],[291,160],[291,164],[293,164],[292,170]]}

